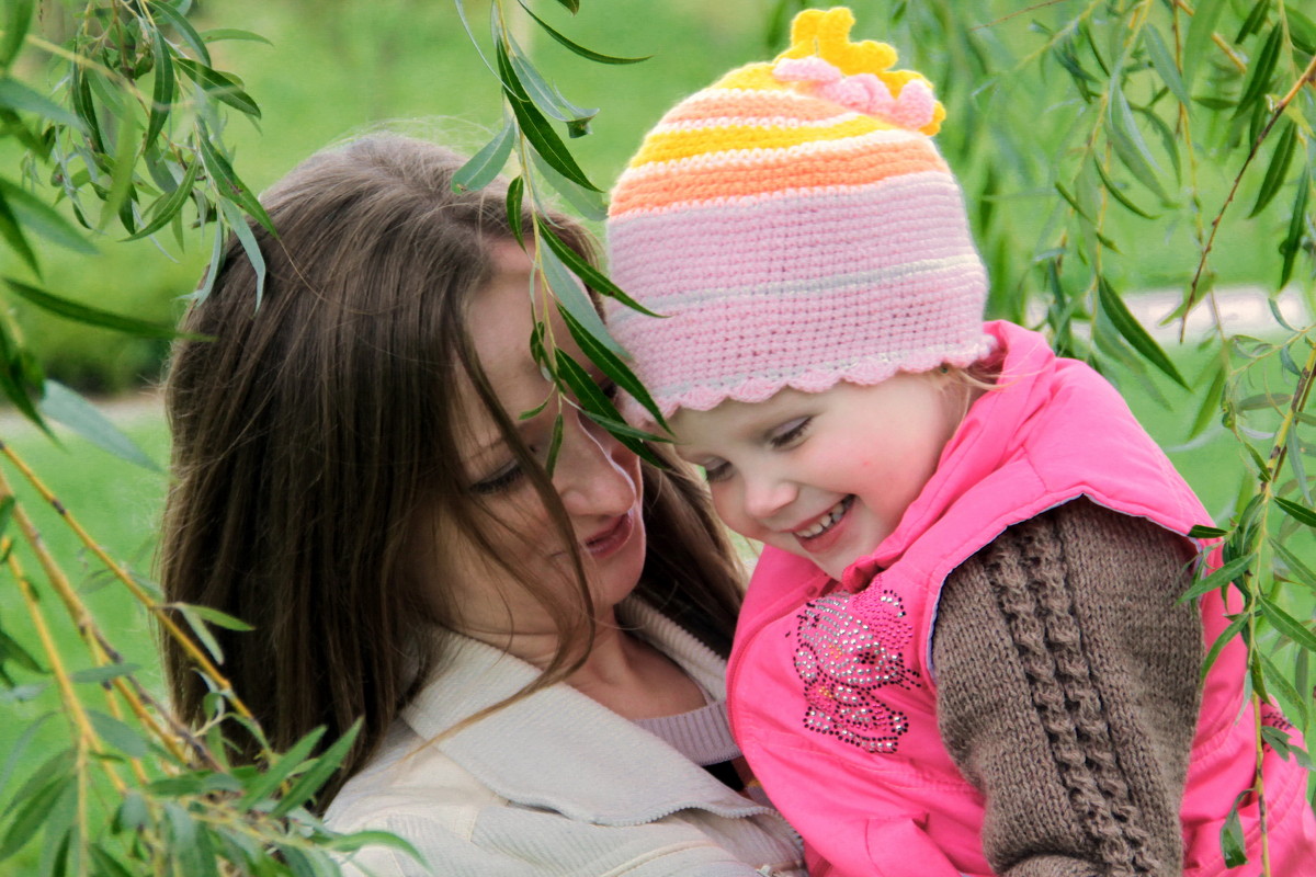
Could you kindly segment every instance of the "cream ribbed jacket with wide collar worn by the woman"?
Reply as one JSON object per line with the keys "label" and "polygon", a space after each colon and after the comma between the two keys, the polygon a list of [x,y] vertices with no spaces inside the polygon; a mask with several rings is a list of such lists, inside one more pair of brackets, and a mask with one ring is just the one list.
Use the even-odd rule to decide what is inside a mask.
{"label": "cream ribbed jacket with wide collar worn by the woman", "polygon": [[[619,618],[725,697],[725,661],[694,636],[636,600]],[[436,681],[325,815],[336,831],[396,834],[426,864],[366,847],[346,873],[803,877],[799,838],[774,810],[566,684],[429,743],[538,673],[484,643],[441,636]]]}

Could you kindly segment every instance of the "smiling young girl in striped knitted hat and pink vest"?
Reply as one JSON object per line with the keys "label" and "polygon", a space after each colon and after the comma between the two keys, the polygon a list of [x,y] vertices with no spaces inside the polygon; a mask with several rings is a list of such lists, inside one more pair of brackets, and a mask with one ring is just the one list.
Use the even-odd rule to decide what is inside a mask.
{"label": "smiling young girl in striped knitted hat and pink vest", "polygon": [[[1178,601],[1209,518],[1095,372],[982,323],[944,112],[853,21],[801,13],[613,195],[613,277],[666,317],[616,337],[765,543],[733,732],[813,877],[1221,874],[1236,803],[1257,874],[1242,647],[1202,688],[1227,607]],[[1271,873],[1316,874],[1304,772],[1263,778]]]}

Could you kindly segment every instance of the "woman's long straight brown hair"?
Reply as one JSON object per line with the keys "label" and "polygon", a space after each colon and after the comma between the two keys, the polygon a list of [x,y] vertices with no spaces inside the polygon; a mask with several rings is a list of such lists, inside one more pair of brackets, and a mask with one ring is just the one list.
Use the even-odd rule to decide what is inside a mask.
{"label": "woman's long straight brown hair", "polygon": [[[550,480],[474,354],[466,309],[492,276],[491,243],[512,239],[512,229],[505,188],[453,192],[461,166],[401,137],[312,156],[263,199],[279,237],[251,225],[267,271],[259,304],[255,270],[230,241],[213,291],[183,320],[213,341],[180,341],[172,352],[162,584],[170,601],[254,625],[213,634],[224,672],[275,749],[318,726],[328,746],[363,718],[320,807],[420,682],[440,673],[441,684],[420,644],[433,626],[453,626],[455,606],[434,594],[442,581],[412,575],[418,515],[440,508],[488,544],[461,465],[466,377],[574,544]],[[529,214],[520,221],[529,233]],[[553,221],[592,258],[578,226]],[[740,572],[703,485],[679,465],[646,465],[644,480],[649,554],[638,593],[726,653]],[[571,644],[592,635],[587,584],[578,575],[579,593],[565,601],[530,571],[512,572],[562,634],[533,688],[553,684],[579,665]],[[200,724],[205,680],[175,643],[163,648],[176,709]],[[253,738],[237,727],[230,736],[243,760],[258,757]]]}

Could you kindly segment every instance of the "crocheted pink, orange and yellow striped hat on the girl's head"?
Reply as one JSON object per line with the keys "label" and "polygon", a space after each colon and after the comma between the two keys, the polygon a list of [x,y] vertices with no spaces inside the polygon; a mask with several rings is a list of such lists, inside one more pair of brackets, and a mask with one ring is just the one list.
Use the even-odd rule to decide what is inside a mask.
{"label": "crocheted pink, orange and yellow striped hat on the girl's head", "polygon": [[[674,107],[617,181],[605,301],[665,415],[876,384],[990,351],[986,271],[933,146],[945,110],[849,9]],[[633,400],[628,417],[646,422]]]}

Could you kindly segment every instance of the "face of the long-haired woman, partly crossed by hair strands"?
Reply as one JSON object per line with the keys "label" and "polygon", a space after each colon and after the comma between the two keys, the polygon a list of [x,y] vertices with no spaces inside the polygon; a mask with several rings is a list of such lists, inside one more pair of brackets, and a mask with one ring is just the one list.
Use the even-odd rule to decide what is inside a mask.
{"label": "face of the long-haired woman, partly crossed by hair strands", "polygon": [[[645,560],[640,460],[578,409],[559,404],[530,356],[530,259],[511,242],[495,245],[492,259],[495,276],[468,312],[475,350],[499,402],[541,460],[551,442],[554,419],[562,414],[553,485],[571,522],[596,617],[611,621],[612,607],[636,586]],[[555,314],[553,339],[588,366]],[[558,527],[496,423],[475,398],[474,388],[468,387],[465,397],[459,443],[476,526],[497,559],[533,576],[542,589],[570,600],[578,585]],[[538,414],[521,419],[546,400]],[[442,568],[433,571],[432,581],[451,596],[463,632],[500,644],[507,644],[509,635],[555,634],[549,614],[511,580],[507,567],[458,527],[440,522],[433,533]]]}

